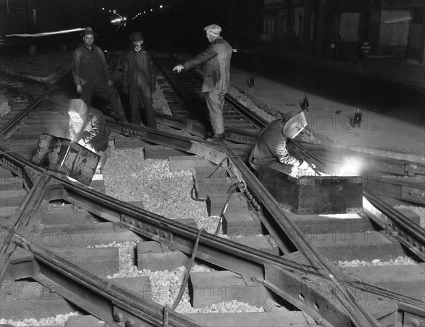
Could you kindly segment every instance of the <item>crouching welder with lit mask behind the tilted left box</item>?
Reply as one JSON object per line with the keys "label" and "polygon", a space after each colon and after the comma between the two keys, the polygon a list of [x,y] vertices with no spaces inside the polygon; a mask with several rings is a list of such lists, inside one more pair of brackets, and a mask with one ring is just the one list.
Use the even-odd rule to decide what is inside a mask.
{"label": "crouching welder with lit mask behind the tilted left box", "polygon": [[98,109],[87,107],[81,99],[69,100],[68,115],[71,140],[100,155],[98,169],[101,169],[107,159],[109,135],[105,116]]}

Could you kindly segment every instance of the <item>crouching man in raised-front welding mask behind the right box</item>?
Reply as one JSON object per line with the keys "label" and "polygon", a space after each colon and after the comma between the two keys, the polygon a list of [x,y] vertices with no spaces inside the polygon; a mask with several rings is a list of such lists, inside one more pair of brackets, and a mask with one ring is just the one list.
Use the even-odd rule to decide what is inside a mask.
{"label": "crouching man in raised-front welding mask behind the right box", "polygon": [[[254,170],[266,165],[275,170],[297,177],[302,174],[315,174],[313,164],[291,155],[288,140],[293,140],[307,126],[304,112],[290,112],[282,119],[268,123],[256,141],[249,156],[249,164]],[[299,172],[298,169],[304,170]]]}

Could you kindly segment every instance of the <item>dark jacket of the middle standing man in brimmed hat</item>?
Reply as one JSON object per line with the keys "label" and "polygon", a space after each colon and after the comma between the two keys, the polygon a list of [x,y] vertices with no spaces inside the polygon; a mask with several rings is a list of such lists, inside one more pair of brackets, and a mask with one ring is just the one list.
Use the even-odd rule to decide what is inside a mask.
{"label": "dark jacket of the middle standing man in brimmed hat", "polygon": [[139,52],[131,50],[125,54],[123,62],[123,89],[135,86],[139,89],[149,87],[154,92],[157,70],[150,53],[142,48]]}

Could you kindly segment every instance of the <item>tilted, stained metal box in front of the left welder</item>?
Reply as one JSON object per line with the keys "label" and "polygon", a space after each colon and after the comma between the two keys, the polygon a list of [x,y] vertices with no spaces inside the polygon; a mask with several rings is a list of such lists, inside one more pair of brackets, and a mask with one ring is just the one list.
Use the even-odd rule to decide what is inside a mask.
{"label": "tilted, stained metal box in front of the left welder", "polygon": [[[68,150],[69,149],[69,150]],[[42,133],[31,162],[89,185],[100,156],[67,138]]]}

